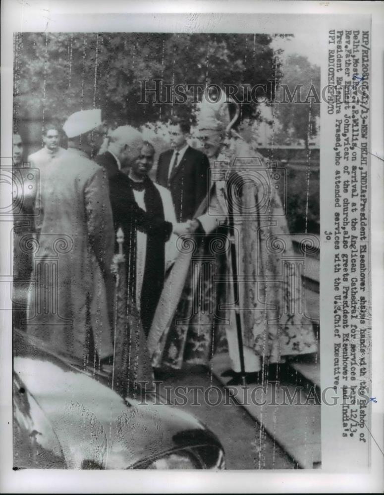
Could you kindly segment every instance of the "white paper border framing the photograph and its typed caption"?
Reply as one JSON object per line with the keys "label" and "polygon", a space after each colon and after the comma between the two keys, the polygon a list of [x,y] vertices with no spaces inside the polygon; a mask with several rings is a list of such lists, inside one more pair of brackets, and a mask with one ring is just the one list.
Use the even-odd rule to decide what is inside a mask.
{"label": "white paper border framing the photograph and its typed caption", "polygon": [[[379,2],[333,1],[39,1],[4,0],[1,5],[1,157],[11,156],[13,32],[22,31],[129,31],[121,29],[124,16],[138,14],[142,31],[159,31],[164,25],[151,14],[178,13],[199,27],[192,13],[270,14],[263,17],[264,32],[279,32],[286,14],[371,14],[371,266],[372,266],[372,390],[378,398],[372,414],[372,435],[383,449],[383,53],[384,6]],[[81,13],[83,15],[79,16]],[[108,14],[108,15],[106,15]],[[114,14],[114,15],[112,15]],[[119,14],[119,15],[117,15]],[[278,14],[284,14],[280,18]],[[137,19],[143,24],[137,24]],[[114,19],[114,20],[113,20]],[[180,17],[181,19],[181,17]],[[221,20],[223,17],[221,18]],[[113,22],[113,29],[108,26]],[[297,21],[296,21],[297,22]],[[182,24],[180,24],[182,25]],[[231,26],[233,28],[233,21]],[[281,25],[281,24],[280,24]],[[147,28],[146,28],[147,26]],[[66,27],[66,29],[64,29]],[[111,27],[111,26],[110,26]],[[117,29],[114,29],[117,27]],[[262,32],[257,26],[257,32]],[[159,29],[158,29],[159,28]],[[134,29],[139,31],[140,29]],[[202,29],[204,31],[204,29]],[[292,29],[285,26],[285,32]],[[230,32],[230,31],[228,31]],[[280,31],[283,32],[283,31]],[[1,195],[9,188],[1,184]],[[4,197],[4,196],[3,196]],[[10,228],[10,226],[9,226]],[[6,236],[1,236],[1,266]],[[2,288],[0,288],[0,291]],[[1,296],[1,294],[0,294]],[[0,490],[2,493],[301,493],[376,492],[383,490],[383,455],[372,442],[371,469],[363,474],[322,471],[227,471],[220,473],[149,471],[12,471],[11,312],[0,311]],[[10,426],[9,426],[10,424]]]}

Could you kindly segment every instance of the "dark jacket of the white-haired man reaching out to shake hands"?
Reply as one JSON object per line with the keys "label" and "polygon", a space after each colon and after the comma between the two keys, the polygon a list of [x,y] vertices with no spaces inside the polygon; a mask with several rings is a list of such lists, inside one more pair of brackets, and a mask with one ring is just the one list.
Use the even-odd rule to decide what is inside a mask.
{"label": "dark jacket of the white-haired man reaching out to shake hands", "polygon": [[112,153],[106,151],[98,155],[95,161],[107,173],[115,231],[121,227],[127,242],[129,236],[136,234],[136,229],[147,235],[158,236],[166,242],[172,233],[172,224],[148,214],[137,205],[129,179],[118,169]]}

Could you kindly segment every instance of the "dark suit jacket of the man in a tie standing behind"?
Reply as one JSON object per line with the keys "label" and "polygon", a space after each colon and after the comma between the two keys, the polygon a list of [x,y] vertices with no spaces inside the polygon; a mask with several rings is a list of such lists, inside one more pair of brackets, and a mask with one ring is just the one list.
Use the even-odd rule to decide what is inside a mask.
{"label": "dark suit jacket of the man in a tie standing behind", "polygon": [[170,190],[176,219],[185,222],[195,216],[197,208],[208,194],[209,160],[204,153],[189,146],[168,179],[172,155],[173,149],[168,149],[159,156],[156,182]]}

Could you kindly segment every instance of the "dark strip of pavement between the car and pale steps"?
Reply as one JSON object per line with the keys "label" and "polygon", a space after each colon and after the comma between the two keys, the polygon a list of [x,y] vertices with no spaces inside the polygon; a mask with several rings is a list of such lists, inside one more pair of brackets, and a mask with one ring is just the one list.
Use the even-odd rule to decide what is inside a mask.
{"label": "dark strip of pavement between the car and pale steps", "polygon": [[[299,468],[267,430],[230,397],[212,368],[186,366],[169,370],[159,379],[168,403],[194,414],[218,436],[225,451],[226,469]],[[189,390],[184,399],[180,388]]]}

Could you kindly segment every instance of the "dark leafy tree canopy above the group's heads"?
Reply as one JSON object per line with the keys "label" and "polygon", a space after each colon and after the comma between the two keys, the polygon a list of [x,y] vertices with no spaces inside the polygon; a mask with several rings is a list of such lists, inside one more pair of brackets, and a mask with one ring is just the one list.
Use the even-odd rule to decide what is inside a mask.
{"label": "dark leafy tree canopy above the group's heads", "polygon": [[[23,33],[15,37],[15,117],[61,122],[81,108],[101,107],[118,123],[139,126],[185,104],[141,99],[141,79],[164,84],[268,84],[279,62],[265,34]],[[165,95],[163,100],[165,100]],[[256,104],[243,104],[242,116]]]}

